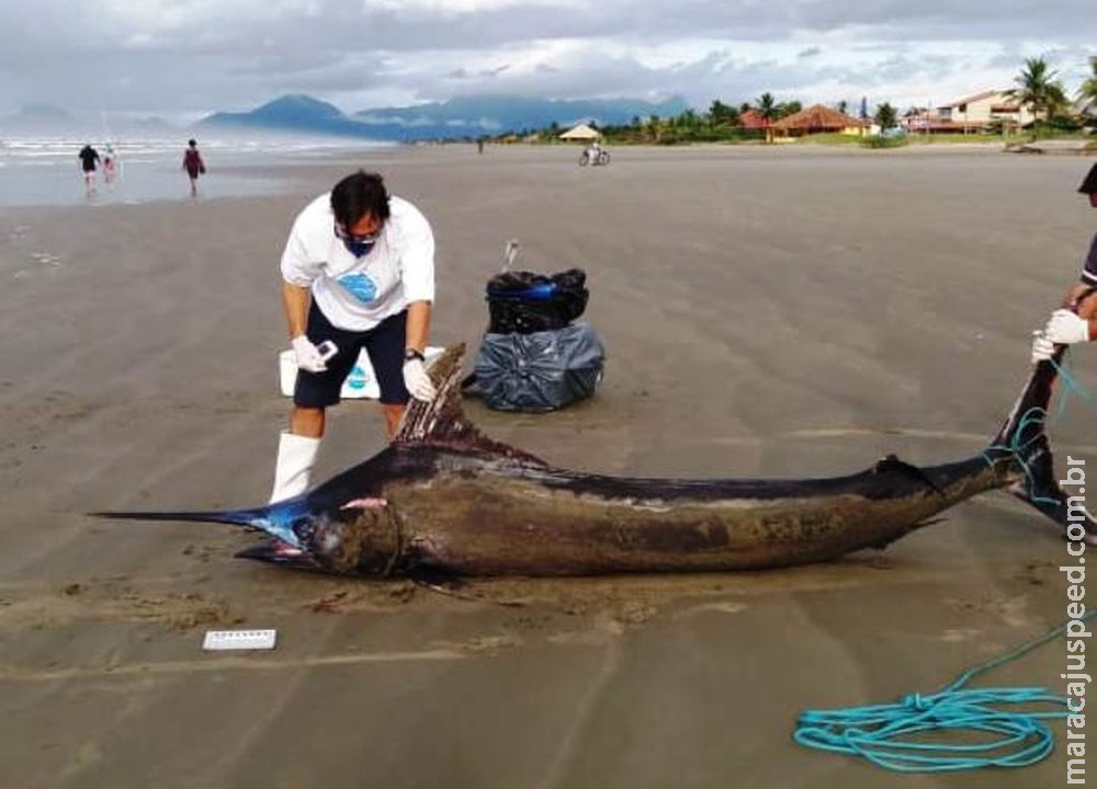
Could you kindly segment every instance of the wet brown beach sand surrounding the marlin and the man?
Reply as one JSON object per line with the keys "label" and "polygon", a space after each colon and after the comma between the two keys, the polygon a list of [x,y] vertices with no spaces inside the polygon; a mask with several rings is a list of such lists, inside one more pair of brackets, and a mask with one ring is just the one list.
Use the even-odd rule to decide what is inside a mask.
{"label": "wet brown beach sand surrounding the marlin and the man", "polygon": [[[353,167],[433,224],[434,344],[475,351],[508,239],[519,267],[587,271],[598,396],[466,410],[555,465],[620,474],[976,454],[1093,231],[1084,159],[612,152],[580,169],[564,147],[406,148],[279,173],[276,196],[0,210],[0,786],[1065,782],[1062,739],[1032,768],[906,778],[791,741],[803,709],[935,691],[1064,619],[1066,544],[1005,493],[829,564],[455,594],[234,560],[256,538],[227,526],[86,515],[265,502],[289,409],[279,255]],[[1092,382],[1094,351],[1075,355]],[[1060,464],[1097,460],[1092,408],[1052,426]],[[315,479],[377,451],[382,425],[370,401],[332,410]],[[276,628],[278,648],[201,650],[236,627]],[[1056,640],[984,684],[1063,693],[1065,655]]]}

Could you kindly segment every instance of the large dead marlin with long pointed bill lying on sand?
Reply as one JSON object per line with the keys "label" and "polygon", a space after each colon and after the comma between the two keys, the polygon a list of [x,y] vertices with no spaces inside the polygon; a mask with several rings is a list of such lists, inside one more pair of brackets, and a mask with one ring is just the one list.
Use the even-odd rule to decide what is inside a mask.
{"label": "large dead marlin with long pointed bill lying on sand", "polygon": [[[255,510],[99,513],[207,521],[273,537],[247,559],[348,575],[595,575],[757,570],[883,548],[937,513],[1008,488],[1088,539],[1097,524],[1060,489],[1044,433],[1058,361],[1037,365],[980,454],[915,467],[890,456],[829,479],[604,477],[558,469],[485,437],[461,410],[464,347],[433,365],[393,444],[307,493]],[[1081,528],[1078,528],[1081,527]]]}

